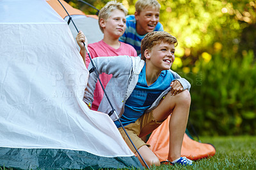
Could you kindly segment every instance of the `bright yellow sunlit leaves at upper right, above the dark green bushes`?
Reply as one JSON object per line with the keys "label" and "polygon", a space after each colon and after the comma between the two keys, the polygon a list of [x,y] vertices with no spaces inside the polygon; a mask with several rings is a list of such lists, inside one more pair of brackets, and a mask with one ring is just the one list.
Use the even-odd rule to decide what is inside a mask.
{"label": "bright yellow sunlit leaves at upper right, above the dark green bushes", "polygon": [[[214,42],[220,42],[223,52],[233,50],[244,27],[255,24],[255,3],[249,1],[161,1],[164,29],[180,42],[179,56],[196,58],[200,52],[210,54]],[[237,40],[236,40],[237,39]],[[186,61],[188,62],[188,61]],[[190,62],[188,62],[190,63]],[[186,63],[185,63],[186,65]]]}

